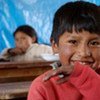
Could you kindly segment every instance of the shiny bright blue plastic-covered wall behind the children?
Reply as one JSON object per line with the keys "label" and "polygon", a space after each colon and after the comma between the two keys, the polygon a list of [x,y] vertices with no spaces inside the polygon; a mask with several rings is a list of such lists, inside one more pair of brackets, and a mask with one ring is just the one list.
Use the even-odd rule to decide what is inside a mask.
{"label": "shiny bright blue plastic-covered wall behind the children", "polygon": [[[23,24],[34,27],[38,42],[50,44],[52,19],[65,2],[76,0],[0,0],[0,51],[14,47],[14,30]],[[100,5],[100,0],[85,0]]]}

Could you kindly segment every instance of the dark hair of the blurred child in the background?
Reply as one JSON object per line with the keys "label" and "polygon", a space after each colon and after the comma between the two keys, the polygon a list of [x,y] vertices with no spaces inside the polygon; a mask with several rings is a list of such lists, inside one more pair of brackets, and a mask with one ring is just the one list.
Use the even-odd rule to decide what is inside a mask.
{"label": "dark hair of the blurred child in the background", "polygon": [[16,35],[17,32],[23,32],[25,33],[26,35],[30,36],[30,37],[35,37],[36,38],[36,41],[34,43],[37,43],[37,33],[35,31],[34,28],[32,28],[31,26],[29,25],[22,25],[22,26],[19,26],[15,32],[14,32],[14,37]]}

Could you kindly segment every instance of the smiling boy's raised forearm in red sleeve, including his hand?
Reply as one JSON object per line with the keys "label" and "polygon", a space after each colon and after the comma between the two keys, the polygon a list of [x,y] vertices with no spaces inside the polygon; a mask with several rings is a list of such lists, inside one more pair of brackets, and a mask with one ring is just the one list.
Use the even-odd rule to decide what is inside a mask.
{"label": "smiling boy's raised forearm in red sleeve, including his hand", "polygon": [[[69,67],[71,68],[71,66]],[[71,75],[67,76],[67,69],[59,67],[56,70],[51,70],[49,74],[44,77],[44,81],[47,81],[51,77],[57,76],[63,73],[63,77],[57,80],[57,83],[63,83],[69,81],[82,95],[82,100],[100,100],[100,76],[89,66],[76,63],[73,70],[69,70]],[[59,81],[59,82],[58,82]]]}

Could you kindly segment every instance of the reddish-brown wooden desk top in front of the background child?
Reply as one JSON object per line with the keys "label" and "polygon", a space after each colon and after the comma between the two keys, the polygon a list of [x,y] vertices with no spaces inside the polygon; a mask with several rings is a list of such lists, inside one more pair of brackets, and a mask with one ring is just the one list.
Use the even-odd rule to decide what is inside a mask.
{"label": "reddish-brown wooden desk top in front of the background child", "polygon": [[50,66],[54,61],[34,61],[34,62],[0,62],[2,68],[30,68],[30,67],[46,67]]}

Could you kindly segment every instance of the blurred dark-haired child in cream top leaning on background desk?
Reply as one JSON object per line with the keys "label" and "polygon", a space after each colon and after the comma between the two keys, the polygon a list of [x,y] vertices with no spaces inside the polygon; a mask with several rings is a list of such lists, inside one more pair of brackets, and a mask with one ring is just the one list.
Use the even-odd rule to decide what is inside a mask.
{"label": "blurred dark-haired child in cream top leaning on background desk", "polygon": [[40,60],[42,53],[53,54],[52,48],[37,43],[36,31],[28,25],[18,27],[14,32],[15,48],[5,49],[1,55],[10,61]]}

